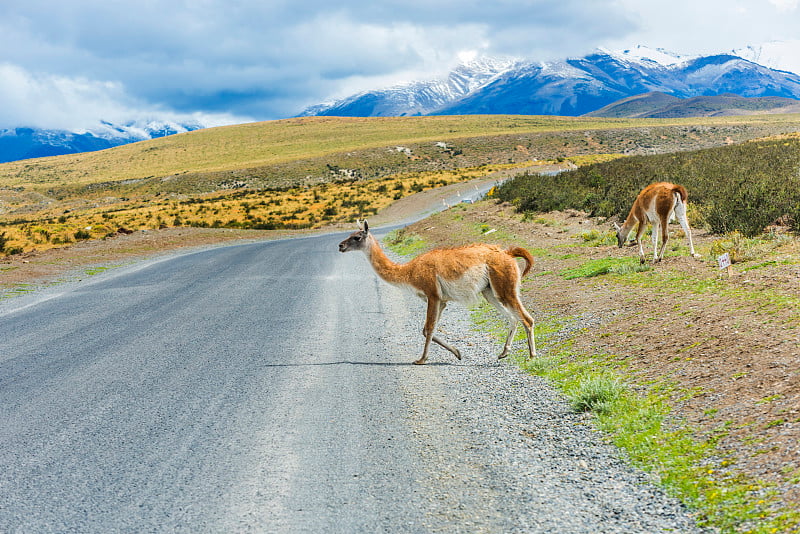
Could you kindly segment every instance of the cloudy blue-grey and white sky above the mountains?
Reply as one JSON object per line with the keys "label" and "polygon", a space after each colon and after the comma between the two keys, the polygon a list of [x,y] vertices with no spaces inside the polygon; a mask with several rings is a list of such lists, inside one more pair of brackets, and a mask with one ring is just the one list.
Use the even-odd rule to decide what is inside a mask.
{"label": "cloudy blue-grey and white sky above the mountains", "polygon": [[0,128],[289,117],[441,74],[642,44],[707,54],[800,37],[800,0],[2,0]]}

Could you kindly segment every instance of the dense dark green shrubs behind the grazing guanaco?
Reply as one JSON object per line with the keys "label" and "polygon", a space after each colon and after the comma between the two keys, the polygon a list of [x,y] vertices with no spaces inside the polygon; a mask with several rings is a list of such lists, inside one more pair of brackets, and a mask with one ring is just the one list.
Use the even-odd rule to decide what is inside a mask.
{"label": "dense dark green shrubs behind the grazing guanaco", "polygon": [[778,219],[800,231],[800,139],[773,139],[721,148],[634,156],[558,175],[524,174],[497,190],[519,211],[567,208],[624,219],[636,195],[654,182],[689,192],[692,218],[714,233],[762,233]]}

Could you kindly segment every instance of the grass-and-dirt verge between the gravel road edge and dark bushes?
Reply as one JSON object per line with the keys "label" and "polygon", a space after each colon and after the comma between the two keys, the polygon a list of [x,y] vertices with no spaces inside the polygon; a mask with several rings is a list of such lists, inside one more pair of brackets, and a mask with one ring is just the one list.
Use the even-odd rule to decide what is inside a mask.
{"label": "grass-and-dirt verge between the gravel road edge and dark bushes", "polygon": [[[672,251],[672,263],[655,268],[646,265],[645,270],[639,270],[635,258],[606,257],[612,249],[602,247],[602,235],[597,236],[601,242],[598,247],[581,237],[584,231],[573,232],[559,221],[548,221],[547,216],[537,222],[504,226],[499,218],[482,213],[485,210],[485,203],[459,207],[394,236],[394,240],[413,243],[416,250],[475,240],[528,246],[538,265],[522,290],[523,299],[534,302],[530,308],[539,309],[535,315],[540,355],[527,361],[521,349],[515,355],[516,363],[548,379],[575,410],[592,412],[608,439],[625,450],[633,464],[652,473],[669,493],[686,503],[700,525],[720,532],[796,532],[800,512],[786,488],[796,488],[800,483],[800,469],[786,461],[785,455],[778,465],[771,456],[777,454],[777,446],[769,444],[778,441],[772,437],[773,431],[783,428],[783,432],[789,432],[800,419],[791,406],[777,409],[774,418],[762,420],[752,410],[737,412],[750,405],[763,407],[778,399],[792,399],[793,392],[765,386],[763,382],[771,379],[768,376],[757,378],[762,383],[752,391],[737,389],[746,374],[758,373],[749,363],[741,364],[746,371],[731,371],[738,369],[733,362],[739,358],[734,347],[724,346],[706,354],[710,344],[727,341],[707,328],[693,329],[689,322],[697,319],[687,312],[696,302],[713,297],[724,300],[726,306],[742,309],[736,317],[737,333],[771,328],[772,323],[796,332],[797,318],[792,312],[797,309],[796,296],[782,291],[779,276],[798,264],[796,248],[791,248],[796,243],[779,243],[777,252],[762,252],[756,255],[759,259],[737,266],[743,278],[772,269],[765,278],[774,279],[775,287],[765,289],[753,286],[749,279],[728,281],[716,273],[707,275],[713,273],[706,265],[710,262],[699,267],[684,262],[683,245],[674,242],[677,246]],[[538,236],[522,234],[520,229],[526,225],[539,227],[540,235],[552,234],[550,243],[543,246]],[[433,230],[426,232],[427,228]],[[490,230],[491,239],[482,237]],[[701,251],[710,257],[715,240],[707,242],[702,245],[707,248]],[[632,354],[639,350],[633,330],[648,322],[650,310],[637,313],[635,308],[639,299],[652,300],[654,291],[664,293],[659,299],[666,308],[667,326],[655,329],[652,339],[642,341],[642,345],[657,345],[660,355],[670,361],[663,365],[650,360],[652,351],[645,352],[643,358],[617,352],[625,347],[630,347]],[[581,301],[581,306],[576,306],[569,301],[575,292],[588,295],[589,304]],[[612,296],[604,301],[602,292]],[[592,303],[595,295],[597,301]],[[564,302],[559,303],[559,299]],[[608,302],[616,304],[612,308]],[[628,306],[633,310],[624,311]],[[571,308],[575,311],[564,313]],[[599,320],[586,322],[588,315]],[[502,322],[488,306],[477,309],[474,320],[482,330],[494,328],[498,336],[502,335]],[[673,323],[687,325],[681,344],[674,344],[665,333]],[[702,336],[716,337],[708,342]],[[754,334],[751,339],[760,338]],[[717,361],[718,354],[727,354],[733,363]],[[704,366],[709,366],[712,375],[729,374],[729,378],[715,382],[706,377]],[[776,382],[775,387],[778,385]],[[754,401],[747,398],[750,394],[756,395]],[[734,397],[727,406],[714,403],[714,399],[726,395]]]}

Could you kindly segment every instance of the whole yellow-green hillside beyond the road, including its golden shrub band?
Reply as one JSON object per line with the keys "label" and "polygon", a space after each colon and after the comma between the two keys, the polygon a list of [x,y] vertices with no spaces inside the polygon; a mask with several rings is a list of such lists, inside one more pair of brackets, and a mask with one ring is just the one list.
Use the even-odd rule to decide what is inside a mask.
{"label": "whole yellow-green hillside beyond the road, including its golden shrub band", "polygon": [[138,229],[316,228],[498,171],[798,130],[800,115],[308,117],[198,130],[0,165],[0,253]]}

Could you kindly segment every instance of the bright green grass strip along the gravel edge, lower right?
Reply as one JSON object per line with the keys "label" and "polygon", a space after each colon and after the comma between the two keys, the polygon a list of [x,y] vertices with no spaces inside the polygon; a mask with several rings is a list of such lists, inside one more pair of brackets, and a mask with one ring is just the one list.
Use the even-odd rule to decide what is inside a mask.
{"label": "bright green grass strip along the gravel edge, lower right", "polygon": [[[482,323],[482,329],[501,335],[502,323],[487,306],[474,309],[473,318]],[[699,525],[726,534],[797,531],[800,512],[779,508],[773,488],[736,471],[732,460],[717,448],[719,439],[729,431],[729,423],[698,437],[700,432],[673,415],[670,399],[679,398],[681,393],[674,384],[655,381],[645,387],[628,387],[632,377],[625,374],[624,366],[616,366],[614,358],[575,353],[568,339],[548,346],[551,335],[570,322],[539,321],[537,344],[544,354],[529,360],[527,351],[519,348],[513,353],[516,364],[546,378],[574,410],[593,413],[597,426],[611,441],[634,465],[653,473],[668,493],[689,506]],[[776,420],[768,425],[783,422]]]}

